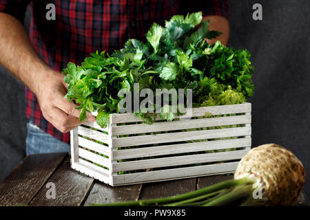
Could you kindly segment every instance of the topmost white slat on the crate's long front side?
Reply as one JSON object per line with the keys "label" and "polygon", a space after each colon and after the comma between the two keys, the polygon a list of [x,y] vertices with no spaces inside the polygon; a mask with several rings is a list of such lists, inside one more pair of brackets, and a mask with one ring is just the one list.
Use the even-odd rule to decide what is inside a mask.
{"label": "topmost white slat on the crate's long front side", "polygon": [[[191,117],[205,116],[206,113],[209,113],[211,115],[225,115],[225,114],[246,113],[246,112],[251,112],[251,103],[193,108]],[[112,115],[111,123],[113,124],[142,121],[141,118],[136,118],[134,113],[122,113],[122,114],[113,113],[111,115]],[[176,116],[175,118],[180,117],[182,116]],[[157,117],[156,120],[161,120],[161,118]]]}

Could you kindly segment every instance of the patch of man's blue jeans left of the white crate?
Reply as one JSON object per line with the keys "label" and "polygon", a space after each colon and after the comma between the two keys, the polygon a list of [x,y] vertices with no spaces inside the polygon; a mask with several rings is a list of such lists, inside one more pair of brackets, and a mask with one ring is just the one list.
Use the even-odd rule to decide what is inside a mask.
{"label": "patch of man's blue jeans left of the white crate", "polygon": [[27,123],[26,155],[37,153],[70,153],[70,145],[45,133],[33,122]]}

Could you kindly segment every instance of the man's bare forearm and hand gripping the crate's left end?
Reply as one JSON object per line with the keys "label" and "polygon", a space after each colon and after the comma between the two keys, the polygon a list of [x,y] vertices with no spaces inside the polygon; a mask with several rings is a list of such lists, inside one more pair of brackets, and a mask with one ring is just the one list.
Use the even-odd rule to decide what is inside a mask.
{"label": "man's bare forearm and hand gripping the crate's left end", "polygon": [[[0,63],[34,91],[44,118],[56,129],[66,133],[81,124],[77,105],[63,99],[67,93],[64,76],[39,58],[23,25],[5,13],[0,13]],[[87,120],[94,122],[96,118],[87,113]]]}

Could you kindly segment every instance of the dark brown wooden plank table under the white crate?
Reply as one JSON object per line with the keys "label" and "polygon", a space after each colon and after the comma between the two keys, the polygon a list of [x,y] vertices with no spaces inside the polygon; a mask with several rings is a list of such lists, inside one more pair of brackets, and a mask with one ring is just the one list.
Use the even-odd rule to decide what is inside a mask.
{"label": "dark brown wooden plank table under the white crate", "polygon": [[[167,197],[189,192],[232,175],[214,175],[151,184],[112,187],[70,168],[66,153],[30,155],[0,183],[0,206],[88,206],[134,199]],[[48,183],[54,183],[55,199],[48,199]],[[297,206],[309,206],[304,193]]]}

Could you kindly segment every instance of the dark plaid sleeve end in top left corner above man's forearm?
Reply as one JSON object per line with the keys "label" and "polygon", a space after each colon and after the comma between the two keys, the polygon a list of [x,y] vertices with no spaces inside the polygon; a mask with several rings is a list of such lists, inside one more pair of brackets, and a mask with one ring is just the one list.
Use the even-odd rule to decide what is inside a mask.
{"label": "dark plaid sleeve end in top left corner above man's forearm", "polygon": [[30,2],[31,0],[0,0],[0,12],[10,14],[23,23]]}

